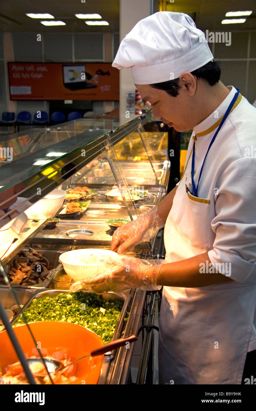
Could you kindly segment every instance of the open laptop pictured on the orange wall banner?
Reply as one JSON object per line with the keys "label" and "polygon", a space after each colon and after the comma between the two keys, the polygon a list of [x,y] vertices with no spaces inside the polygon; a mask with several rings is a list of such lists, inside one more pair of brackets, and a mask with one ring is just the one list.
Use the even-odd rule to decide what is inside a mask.
{"label": "open laptop pictured on the orange wall banner", "polygon": [[85,64],[63,64],[62,69],[63,83],[66,88],[69,88],[69,90],[81,90],[83,88],[97,87],[95,84],[87,83],[86,77],[88,76],[88,73],[85,72]]}

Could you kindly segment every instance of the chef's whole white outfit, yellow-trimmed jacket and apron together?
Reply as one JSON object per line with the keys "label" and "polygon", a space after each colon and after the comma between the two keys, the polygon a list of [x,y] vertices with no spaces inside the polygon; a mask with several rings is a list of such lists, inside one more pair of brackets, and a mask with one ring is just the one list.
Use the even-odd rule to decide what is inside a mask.
{"label": "chef's whole white outfit, yellow-trimmed jacket and apron together", "polygon": [[[191,191],[195,143],[198,176],[231,90],[191,136],[184,174],[166,220],[166,260],[208,252],[207,275],[233,282],[200,288],[164,287],[160,312],[160,383],[240,384],[248,351],[256,349],[256,109],[239,95],[208,152]],[[214,271],[213,271],[214,272]]]}

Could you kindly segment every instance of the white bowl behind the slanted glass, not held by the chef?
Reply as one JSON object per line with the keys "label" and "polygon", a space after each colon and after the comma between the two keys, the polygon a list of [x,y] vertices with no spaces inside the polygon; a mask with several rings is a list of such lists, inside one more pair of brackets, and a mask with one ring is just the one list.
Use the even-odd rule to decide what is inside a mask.
{"label": "white bowl behind the slanted glass, not held by the chef", "polygon": [[32,220],[45,220],[54,217],[60,209],[66,194],[64,190],[56,188],[28,208],[25,211],[27,217]]}

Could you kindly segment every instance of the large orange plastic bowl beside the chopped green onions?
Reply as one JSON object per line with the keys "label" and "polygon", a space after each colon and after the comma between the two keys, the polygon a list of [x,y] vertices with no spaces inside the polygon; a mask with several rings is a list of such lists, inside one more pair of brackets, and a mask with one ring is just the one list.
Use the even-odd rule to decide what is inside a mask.
{"label": "large orange plastic bowl beside the chopped green onions", "polygon": [[[73,323],[59,321],[37,321],[29,323],[30,329],[37,344],[48,350],[48,355],[55,351],[65,351],[72,360],[89,354],[93,349],[104,345],[102,339],[88,328]],[[27,358],[32,355],[35,344],[26,324],[13,328],[18,342]],[[12,346],[7,331],[0,332],[0,365],[2,374],[9,364],[19,361]],[[44,354],[43,354],[44,355]],[[75,376],[77,380],[72,384],[97,384],[104,354],[97,357],[87,357],[78,361]]]}

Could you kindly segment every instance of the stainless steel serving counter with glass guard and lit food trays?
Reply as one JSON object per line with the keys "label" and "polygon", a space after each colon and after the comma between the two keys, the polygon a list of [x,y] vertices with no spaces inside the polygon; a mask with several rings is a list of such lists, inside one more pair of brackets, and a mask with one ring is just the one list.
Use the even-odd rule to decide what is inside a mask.
{"label": "stainless steel serving counter with glass guard and lit food trays", "polygon": [[[149,119],[150,114],[125,122],[85,118],[13,134],[0,143],[5,153],[0,162],[0,301],[5,309],[11,309],[14,301],[25,309],[41,294],[67,293],[72,280],[60,281],[67,277],[58,263],[61,253],[110,249],[113,225],[136,219],[164,198],[170,172],[166,136],[147,135],[143,125]],[[129,254],[162,258],[161,232]],[[145,381],[148,370],[156,295],[131,289],[113,337],[137,334],[143,317],[147,333],[138,383]],[[151,307],[147,314],[145,298]],[[21,312],[12,324],[18,316]],[[6,319],[2,322],[8,330]],[[133,349],[131,344],[130,349],[123,346],[105,355],[98,384],[129,383]]]}

